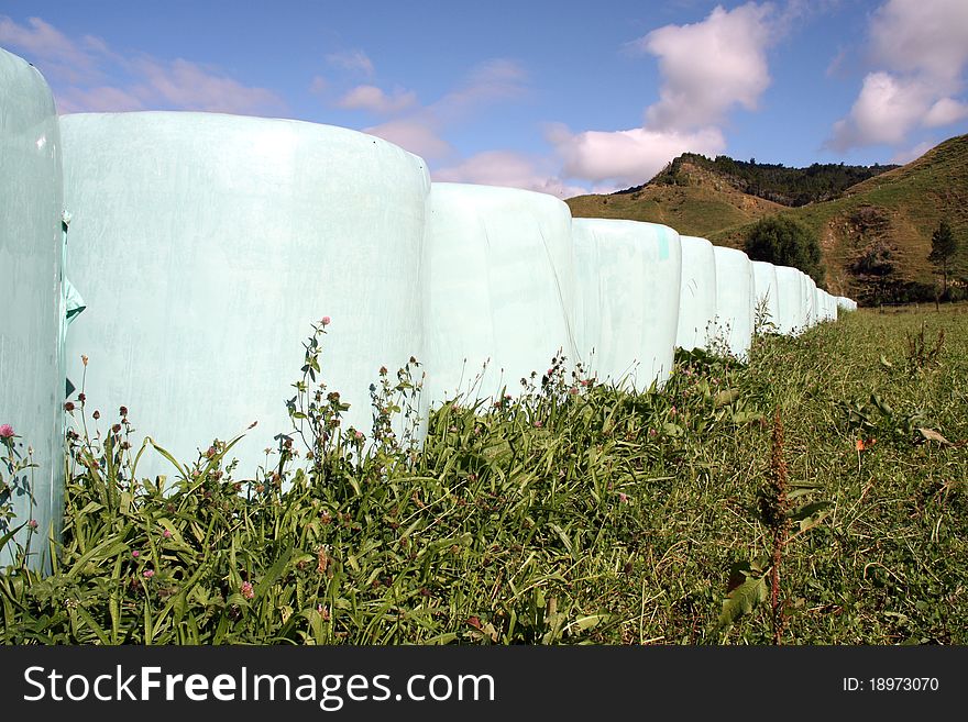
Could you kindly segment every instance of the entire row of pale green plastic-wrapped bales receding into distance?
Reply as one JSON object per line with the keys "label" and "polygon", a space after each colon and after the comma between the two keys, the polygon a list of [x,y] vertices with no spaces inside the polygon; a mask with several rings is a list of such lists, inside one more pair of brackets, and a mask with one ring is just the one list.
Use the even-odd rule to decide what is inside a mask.
{"label": "entire row of pale green plastic-wrapped bales receding into distance", "polygon": [[[363,133],[213,113],[58,122],[40,74],[2,51],[0,86],[0,423],[33,445],[34,499],[15,503],[43,529],[63,488],[65,377],[88,413],[110,424],[123,406],[135,443],[150,433],[180,459],[257,421],[233,448],[252,475],[292,427],[300,342],[323,316],[322,380],[351,404],[343,427],[369,434],[378,369],[411,356],[426,419],[458,392],[514,396],[556,356],[661,385],[676,345],[743,357],[758,306],[792,334],[849,303],[663,225],[431,184],[421,158]],[[67,245],[87,308],[65,363]],[[148,454],[139,473],[174,469]]]}

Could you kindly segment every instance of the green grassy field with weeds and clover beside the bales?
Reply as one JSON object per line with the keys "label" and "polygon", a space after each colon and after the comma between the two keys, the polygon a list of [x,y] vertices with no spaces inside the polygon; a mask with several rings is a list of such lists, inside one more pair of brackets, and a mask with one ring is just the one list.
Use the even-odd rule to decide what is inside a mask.
{"label": "green grassy field with weeds and clover beside the bales", "polygon": [[251,478],[217,441],[167,493],[132,478],[127,420],[87,419],[55,574],[0,577],[0,634],[968,643],[968,307],[760,336],[748,365],[679,360],[662,392],[628,395],[558,359],[521,400],[447,404],[420,452],[388,423],[406,374],[382,377],[366,447],[306,371],[309,458],[283,447]]}

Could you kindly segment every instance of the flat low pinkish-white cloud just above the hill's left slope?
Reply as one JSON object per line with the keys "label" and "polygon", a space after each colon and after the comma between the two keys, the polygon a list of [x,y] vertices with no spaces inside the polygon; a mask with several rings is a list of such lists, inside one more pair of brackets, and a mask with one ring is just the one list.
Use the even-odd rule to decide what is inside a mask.
{"label": "flat low pinkish-white cloud just above the hill's left slope", "polygon": [[564,176],[593,182],[607,181],[622,187],[649,180],[682,153],[715,156],[726,147],[723,133],[717,127],[695,132],[636,127],[572,134],[557,126],[549,131],[548,140],[563,162]]}

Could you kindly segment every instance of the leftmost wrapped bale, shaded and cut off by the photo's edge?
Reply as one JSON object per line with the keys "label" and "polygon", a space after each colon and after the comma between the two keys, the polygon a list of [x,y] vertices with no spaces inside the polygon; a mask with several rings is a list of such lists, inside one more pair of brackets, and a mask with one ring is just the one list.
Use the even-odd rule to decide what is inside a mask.
{"label": "leftmost wrapped bale, shaded and cut off by the photo's edge", "polygon": [[23,526],[0,567],[19,545],[37,569],[48,532],[58,533],[64,490],[61,136],[44,78],[3,49],[0,98],[0,457],[36,465],[3,473],[0,507],[12,503],[15,515],[0,519],[0,536]]}

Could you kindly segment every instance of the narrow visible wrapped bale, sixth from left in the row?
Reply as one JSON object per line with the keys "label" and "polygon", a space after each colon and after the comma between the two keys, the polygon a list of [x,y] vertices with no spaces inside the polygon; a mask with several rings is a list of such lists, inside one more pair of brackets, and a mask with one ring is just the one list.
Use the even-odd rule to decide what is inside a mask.
{"label": "narrow visible wrapped bale, sixth from left in the row", "polygon": [[736,248],[715,246],[717,334],[737,358],[746,358],[752,341],[754,278],[749,257]]}

